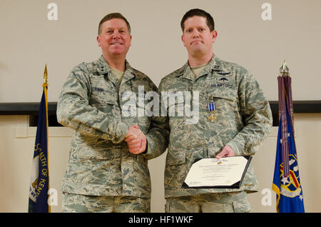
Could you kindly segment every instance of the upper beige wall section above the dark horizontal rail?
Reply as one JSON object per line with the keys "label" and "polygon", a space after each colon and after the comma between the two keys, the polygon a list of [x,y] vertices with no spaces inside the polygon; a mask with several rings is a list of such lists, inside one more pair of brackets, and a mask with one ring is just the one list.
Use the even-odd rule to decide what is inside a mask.
{"label": "upper beige wall section above the dark horizontal rail", "polygon": [[215,19],[215,54],[245,66],[269,100],[277,100],[283,60],[294,80],[293,99],[321,99],[320,0],[1,0],[0,102],[38,102],[45,64],[49,101],[57,101],[73,66],[101,55],[98,23],[115,11],[132,27],[128,61],[158,85],[187,61],[180,19],[193,8]]}

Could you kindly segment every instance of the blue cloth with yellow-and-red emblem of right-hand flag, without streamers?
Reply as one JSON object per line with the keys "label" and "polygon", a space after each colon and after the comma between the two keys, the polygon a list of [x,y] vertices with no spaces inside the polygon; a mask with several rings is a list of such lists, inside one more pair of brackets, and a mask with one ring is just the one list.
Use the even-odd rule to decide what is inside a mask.
{"label": "blue cloth with yellow-and-red emblem of right-hand flag, without streamers", "polygon": [[[277,212],[280,213],[304,213],[302,186],[299,178],[295,140],[293,138],[289,113],[286,109],[286,121],[280,119],[277,135],[277,153],[275,158],[275,171],[272,190],[277,193]],[[287,140],[282,138],[282,122],[287,123]],[[288,143],[288,172],[284,174],[284,161],[282,154],[282,142]]]}

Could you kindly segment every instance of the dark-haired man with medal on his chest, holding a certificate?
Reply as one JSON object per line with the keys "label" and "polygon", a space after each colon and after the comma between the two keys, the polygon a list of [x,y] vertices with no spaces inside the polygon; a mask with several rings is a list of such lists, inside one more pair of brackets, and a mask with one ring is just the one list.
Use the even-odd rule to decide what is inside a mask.
{"label": "dark-haired man with medal on his chest, holding a certificate", "polygon": [[[258,82],[238,64],[213,54],[217,36],[212,16],[200,9],[188,11],[181,21],[188,62],[165,76],[158,90],[199,92],[197,123],[179,113],[169,116],[170,138],[165,166],[166,212],[248,212],[246,194],[258,191],[253,166],[239,189],[182,188],[197,158],[253,155],[272,126],[268,101]],[[165,94],[165,93],[163,93]],[[165,98],[164,98],[165,99]],[[185,99],[186,100],[186,99]],[[168,106],[176,111],[182,99]],[[215,103],[214,117],[208,104]],[[168,114],[169,111],[168,111]]]}

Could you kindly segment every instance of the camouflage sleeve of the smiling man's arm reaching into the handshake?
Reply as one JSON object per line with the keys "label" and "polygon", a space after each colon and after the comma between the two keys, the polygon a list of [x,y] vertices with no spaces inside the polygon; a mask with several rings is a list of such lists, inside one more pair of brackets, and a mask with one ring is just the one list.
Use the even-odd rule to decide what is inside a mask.
{"label": "camouflage sleeve of the smiling man's arm reaching into the handshake", "polygon": [[88,75],[86,64],[71,71],[58,99],[57,120],[84,135],[120,143],[126,136],[128,125],[89,105],[91,85]]}

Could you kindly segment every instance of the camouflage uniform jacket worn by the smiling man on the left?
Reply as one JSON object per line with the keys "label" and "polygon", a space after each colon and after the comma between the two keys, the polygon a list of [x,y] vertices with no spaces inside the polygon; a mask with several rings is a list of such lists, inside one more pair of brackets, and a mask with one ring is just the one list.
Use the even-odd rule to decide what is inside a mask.
{"label": "camouflage uniform jacket worn by the smiling man on the left", "polygon": [[[74,129],[63,191],[95,196],[151,196],[147,161],[165,151],[168,131],[160,117],[123,116],[123,93],[133,91],[138,96],[138,86],[143,86],[145,93],[157,92],[151,79],[131,68],[127,61],[121,84],[103,56],[71,71],[57,107],[58,122]],[[137,106],[141,108],[145,106]],[[146,134],[147,153],[134,155],[123,141],[128,126],[135,123]]]}

